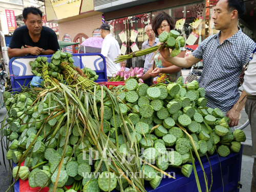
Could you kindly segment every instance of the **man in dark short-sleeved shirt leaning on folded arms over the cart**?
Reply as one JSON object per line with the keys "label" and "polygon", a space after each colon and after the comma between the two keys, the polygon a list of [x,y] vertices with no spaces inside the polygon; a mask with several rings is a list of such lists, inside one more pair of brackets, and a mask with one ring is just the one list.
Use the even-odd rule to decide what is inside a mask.
{"label": "man in dark short-sleeved shirt leaning on folded arms over the cart", "polygon": [[42,12],[27,7],[23,10],[23,17],[25,26],[14,31],[8,48],[9,57],[55,53],[59,49],[57,35],[52,29],[42,26]]}

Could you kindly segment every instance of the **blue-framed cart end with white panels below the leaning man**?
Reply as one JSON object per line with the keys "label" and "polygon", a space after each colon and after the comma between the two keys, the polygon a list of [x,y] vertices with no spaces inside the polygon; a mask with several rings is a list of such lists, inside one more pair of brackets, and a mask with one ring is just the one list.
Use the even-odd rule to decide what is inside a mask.
{"label": "blue-framed cart end with white panels below the leaning man", "polygon": [[[48,62],[51,62],[52,55],[41,55],[48,58]],[[9,61],[9,71],[12,89],[16,91],[20,90],[20,86],[27,86],[32,80],[33,74],[29,61],[34,61],[37,56],[24,56],[24,57],[13,57]],[[74,65],[83,69],[84,67],[95,70],[96,74],[99,75],[98,80],[95,82],[106,81],[106,61],[105,57],[100,53],[82,53],[73,54]]]}

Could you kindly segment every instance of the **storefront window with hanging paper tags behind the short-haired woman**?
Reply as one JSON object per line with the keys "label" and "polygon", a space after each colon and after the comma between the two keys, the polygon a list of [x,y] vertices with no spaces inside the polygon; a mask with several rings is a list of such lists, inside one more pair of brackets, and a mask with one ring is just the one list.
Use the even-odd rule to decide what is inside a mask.
{"label": "storefront window with hanging paper tags behind the short-haired woman", "polygon": [[[133,50],[131,49],[131,46],[134,43],[138,49],[142,48],[143,42],[148,38],[145,34],[144,28],[146,25],[152,24],[152,19],[160,11],[164,11],[174,18],[176,23],[175,28],[181,33],[185,40],[187,40],[191,34],[196,37],[190,37],[190,41],[186,41],[188,42],[188,47],[193,46],[192,48],[196,49],[200,42],[203,41],[209,34],[208,29],[206,33],[206,28],[208,26],[205,24],[206,21],[209,23],[209,15],[208,17],[206,15],[205,3],[189,4],[165,10],[158,10],[152,13],[109,20],[107,23],[111,26],[111,32],[119,42],[120,48],[123,45],[126,46],[126,52],[123,54],[132,53]],[[208,9],[208,12],[210,13],[210,9]],[[136,39],[132,38],[134,32],[137,33]],[[185,48],[183,48],[183,50],[185,51]],[[143,67],[142,57],[130,59],[130,61],[127,61],[127,63],[127,67]],[[200,67],[202,67],[202,63]]]}

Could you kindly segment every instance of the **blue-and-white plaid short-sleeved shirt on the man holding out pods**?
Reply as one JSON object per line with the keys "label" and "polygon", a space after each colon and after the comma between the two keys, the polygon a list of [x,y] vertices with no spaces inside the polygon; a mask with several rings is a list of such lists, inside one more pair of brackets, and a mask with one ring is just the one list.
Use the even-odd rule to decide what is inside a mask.
{"label": "blue-and-white plaid short-sleeved shirt on the man holding out pods", "polygon": [[204,67],[198,82],[206,90],[207,106],[227,112],[236,104],[240,97],[238,76],[255,47],[255,42],[239,28],[222,44],[220,32],[207,37],[192,53],[203,59]]}

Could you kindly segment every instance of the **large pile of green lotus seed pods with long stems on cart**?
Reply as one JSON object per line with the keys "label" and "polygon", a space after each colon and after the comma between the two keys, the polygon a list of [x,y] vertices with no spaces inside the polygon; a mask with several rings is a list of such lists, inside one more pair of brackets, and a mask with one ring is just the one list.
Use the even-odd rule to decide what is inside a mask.
{"label": "large pile of green lotus seed pods with long stems on cart", "polygon": [[[177,167],[189,177],[193,161],[216,151],[223,157],[230,149],[238,153],[246,139],[241,130],[231,132],[220,109],[207,108],[197,81],[184,84],[183,77],[152,87],[131,78],[125,86],[91,90],[60,83],[51,92],[4,92],[4,99],[9,117],[1,133],[8,140],[6,158],[18,164],[13,177],[49,191],[145,191],[131,175],[116,178],[125,169],[143,170],[155,189],[162,180],[158,173]],[[113,162],[122,155],[125,163],[108,165],[104,146],[117,150],[109,156]],[[133,168],[127,162],[136,151],[134,161],[142,164]]]}

